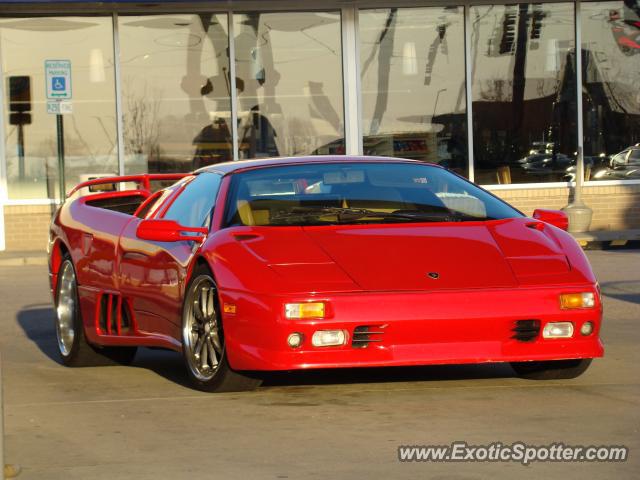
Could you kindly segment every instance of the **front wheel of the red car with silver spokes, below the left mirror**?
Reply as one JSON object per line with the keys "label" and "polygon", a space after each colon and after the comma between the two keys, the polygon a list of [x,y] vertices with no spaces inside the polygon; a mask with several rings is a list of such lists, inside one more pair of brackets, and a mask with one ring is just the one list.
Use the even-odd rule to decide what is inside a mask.
{"label": "front wheel of the red car with silver spokes, below the left mirror", "polygon": [[205,392],[254,390],[262,380],[229,365],[224,343],[218,290],[211,271],[195,268],[182,309],[182,352],[189,379]]}

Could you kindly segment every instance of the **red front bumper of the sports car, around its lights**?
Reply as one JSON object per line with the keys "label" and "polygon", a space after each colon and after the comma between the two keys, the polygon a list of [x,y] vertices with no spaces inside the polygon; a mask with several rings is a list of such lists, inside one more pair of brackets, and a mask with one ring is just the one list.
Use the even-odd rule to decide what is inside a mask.
{"label": "red front bumper of the sports car, around its lights", "polygon": [[[561,310],[561,293],[593,291],[595,308]],[[253,296],[221,291],[223,304],[235,313],[223,314],[227,355],[237,370],[297,370],[308,368],[373,367],[486,363],[528,360],[595,358],[603,355],[599,338],[602,306],[594,285],[494,290],[350,293],[303,297]],[[284,304],[325,301],[328,318],[289,320]],[[514,336],[518,320],[535,319],[540,331],[548,322],[570,321],[569,339],[531,341]],[[580,327],[592,322],[593,333]],[[379,341],[362,346],[367,338],[355,332],[370,327]],[[317,330],[346,332],[345,345],[314,347]],[[357,330],[356,330],[357,329]],[[299,332],[304,342],[293,349],[287,337]]]}

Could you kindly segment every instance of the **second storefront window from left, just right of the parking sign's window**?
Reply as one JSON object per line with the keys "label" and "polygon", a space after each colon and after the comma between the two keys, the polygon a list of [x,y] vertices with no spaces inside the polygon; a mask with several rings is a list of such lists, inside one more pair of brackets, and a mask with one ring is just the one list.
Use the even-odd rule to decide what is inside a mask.
{"label": "second storefront window from left, just right of the parking sign's window", "polygon": [[120,16],[127,173],[233,160],[226,14]]}

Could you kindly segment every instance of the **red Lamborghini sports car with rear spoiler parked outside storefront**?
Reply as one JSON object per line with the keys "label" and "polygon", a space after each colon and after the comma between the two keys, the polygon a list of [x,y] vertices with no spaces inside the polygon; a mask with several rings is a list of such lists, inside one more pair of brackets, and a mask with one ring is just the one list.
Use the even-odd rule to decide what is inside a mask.
{"label": "red Lamborghini sports car with rear spoiler parked outside storefront", "polygon": [[602,305],[566,227],[562,212],[528,218],[402,159],[91,180],[51,225],[60,355],[80,366],[172,349],[208,391],[309,368],[510,362],[572,378],[603,354]]}

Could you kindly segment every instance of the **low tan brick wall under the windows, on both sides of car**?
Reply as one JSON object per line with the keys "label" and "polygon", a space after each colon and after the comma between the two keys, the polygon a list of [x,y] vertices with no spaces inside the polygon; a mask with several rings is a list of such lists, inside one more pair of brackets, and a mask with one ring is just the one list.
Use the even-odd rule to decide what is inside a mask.
{"label": "low tan brick wall under the windows, on both sides of car", "polygon": [[[560,209],[569,201],[569,189],[532,188],[494,190],[498,197],[527,215],[536,208]],[[640,228],[640,185],[584,187],[583,199],[593,209],[591,230]],[[45,250],[49,221],[55,206],[5,206],[6,249]]]}

